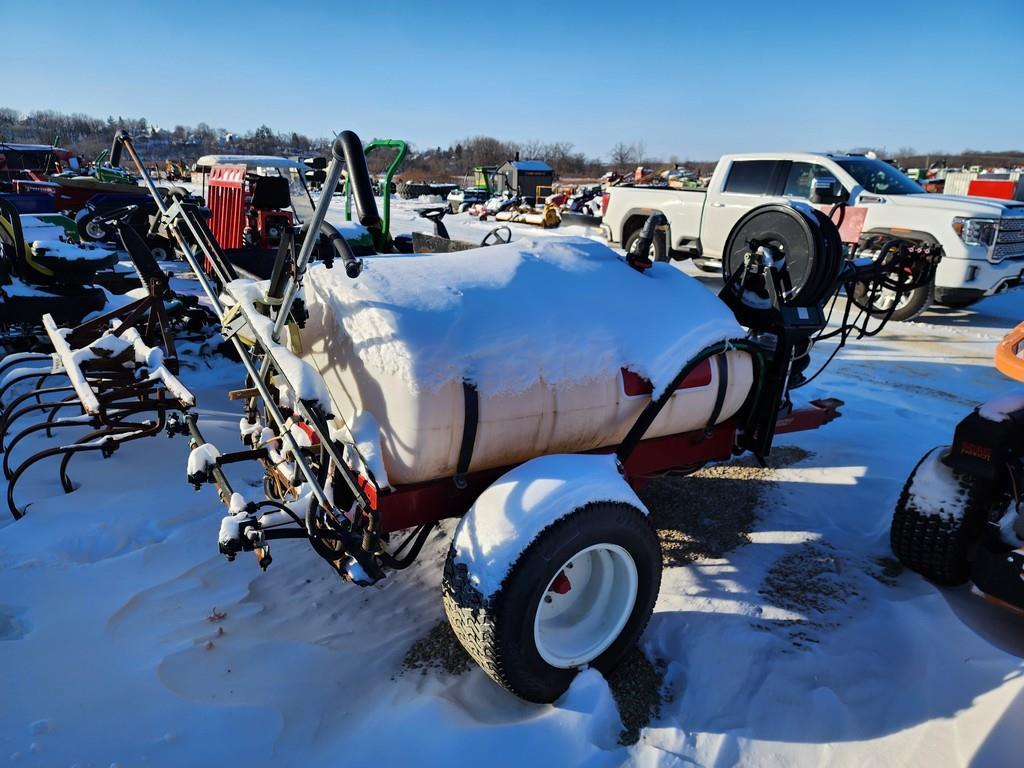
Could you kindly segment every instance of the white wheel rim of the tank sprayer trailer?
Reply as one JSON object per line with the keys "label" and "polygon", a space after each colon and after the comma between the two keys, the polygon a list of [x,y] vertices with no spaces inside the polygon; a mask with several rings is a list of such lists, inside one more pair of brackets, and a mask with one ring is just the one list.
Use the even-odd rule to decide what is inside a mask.
{"label": "white wheel rim of the tank sprayer trailer", "polygon": [[570,669],[601,655],[626,627],[638,583],[636,563],[615,544],[595,544],[562,563],[534,617],[541,658]]}

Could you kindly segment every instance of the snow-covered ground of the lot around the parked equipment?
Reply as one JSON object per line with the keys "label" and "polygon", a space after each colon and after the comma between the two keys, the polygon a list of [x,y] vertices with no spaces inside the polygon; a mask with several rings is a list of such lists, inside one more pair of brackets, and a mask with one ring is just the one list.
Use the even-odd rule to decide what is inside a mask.
{"label": "snow-covered ground of the lot around the parked equipment", "polygon": [[[396,231],[428,228],[414,207],[396,202]],[[449,217],[457,238],[493,225]],[[1021,618],[899,572],[888,527],[918,459],[1012,387],[991,356],[1022,318],[1022,293],[933,309],[851,343],[810,385],[845,400],[843,418],[779,440],[809,453],[760,486],[748,536],[666,570],[642,647],[665,664],[668,700],[632,746],[596,672],[535,706],[476,668],[403,669],[443,616],[451,524],[415,566],[360,590],[303,542],[275,543],[266,573],[225,562],[222,507],[185,483],[183,438],[76,459],[67,496],[55,468],[34,470],[18,485],[27,516],[0,522],[0,764],[1016,764]],[[239,369],[190,361],[180,378],[206,436],[236,444]],[[257,469],[232,476],[255,486]],[[716,486],[755,481],[677,482],[699,483],[686,498],[714,529],[734,524]]]}

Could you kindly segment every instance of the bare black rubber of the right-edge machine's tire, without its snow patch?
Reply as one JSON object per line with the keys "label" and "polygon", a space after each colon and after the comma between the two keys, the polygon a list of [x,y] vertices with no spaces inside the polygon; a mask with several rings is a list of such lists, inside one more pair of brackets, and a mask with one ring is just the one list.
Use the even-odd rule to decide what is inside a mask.
{"label": "bare black rubber of the right-edge machine's tire, without its snow patch", "polygon": [[[981,532],[987,505],[982,494],[974,486],[973,478],[954,476],[953,470],[940,464],[940,471],[955,477],[966,497],[955,502],[963,514],[944,512],[942,509],[919,509],[910,500],[918,473],[926,462],[938,462],[948,446],[932,449],[906,478],[903,492],[896,502],[889,544],[893,554],[904,566],[921,573],[936,584],[955,586],[964,584],[971,574],[971,549]],[[955,500],[950,499],[950,506]]]}

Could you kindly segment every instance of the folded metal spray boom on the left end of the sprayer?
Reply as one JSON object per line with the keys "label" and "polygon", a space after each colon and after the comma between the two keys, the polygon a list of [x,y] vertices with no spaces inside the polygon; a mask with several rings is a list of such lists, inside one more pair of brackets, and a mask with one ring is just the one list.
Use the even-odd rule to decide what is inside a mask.
{"label": "folded metal spray boom on the left end of the sprayer", "polygon": [[[334,142],[319,201],[310,221],[303,226],[307,236],[302,239],[297,252],[294,231],[283,240],[269,288],[260,302],[267,313],[259,316],[254,316],[252,304],[230,296],[230,284],[239,275],[210,232],[203,212],[179,200],[167,202],[162,199],[127,132],[118,133],[115,145],[128,154],[138,170],[142,182],[157,204],[162,224],[174,238],[185,261],[195,271],[203,293],[223,328],[227,342],[246,369],[247,386],[240,392],[232,393],[232,396],[246,400],[250,423],[258,424],[262,417],[266,418],[267,426],[274,432],[273,440],[283,445],[278,456],[283,459],[287,457],[297,484],[301,480],[301,484],[308,488],[308,503],[301,514],[283,502],[273,500],[245,502],[233,493],[220,468],[225,464],[254,459],[267,461],[268,450],[261,446],[236,454],[218,455],[212,464],[205,465],[202,471],[194,473],[189,479],[197,484],[215,484],[221,500],[232,513],[236,523],[232,536],[226,540],[221,538],[221,551],[229,557],[233,557],[239,551],[254,551],[261,567],[265,568],[270,562],[267,540],[296,536],[294,528],[274,529],[272,525],[267,525],[268,529],[264,530],[265,521],[261,522],[261,511],[269,506],[274,509],[275,514],[285,515],[288,522],[301,522],[304,530],[302,535],[307,536],[314,549],[342,574],[355,570],[357,564],[359,567],[354,577],[356,581],[376,581],[382,578],[378,560],[387,561],[390,558],[382,550],[378,537],[377,515],[371,502],[371,497],[376,499],[378,488],[368,464],[359,456],[353,442],[339,440],[332,434],[331,414],[325,410],[326,403],[295,396],[288,403],[286,413],[281,401],[282,392],[274,385],[274,381],[282,380],[291,384],[288,370],[282,362],[282,357],[290,352],[282,343],[282,338],[289,324],[295,321],[295,315],[301,314],[294,311],[295,301],[317,244],[318,233],[333,228],[325,224],[325,218],[341,179],[342,167],[347,164],[351,174],[355,166],[355,172],[369,178],[358,137],[350,131],[344,131]],[[355,163],[356,158],[361,163]],[[376,241],[381,228],[376,209],[367,205],[358,190],[354,197],[359,221],[371,229]],[[341,255],[346,272],[354,278],[359,271],[360,263],[344,248]],[[225,298],[232,301],[230,306],[225,305]],[[264,325],[268,317],[272,321],[269,329]],[[312,450],[299,444],[292,431],[296,424],[303,425],[316,436]],[[195,419],[186,418],[184,423],[175,425],[174,428],[189,434],[194,451],[206,444]],[[350,461],[346,461],[346,455],[350,457]],[[317,462],[315,469],[314,460]],[[350,463],[355,464],[357,469],[352,469]],[[345,500],[342,505],[344,508],[338,504],[339,497]],[[325,541],[330,542],[330,552],[324,551]]]}

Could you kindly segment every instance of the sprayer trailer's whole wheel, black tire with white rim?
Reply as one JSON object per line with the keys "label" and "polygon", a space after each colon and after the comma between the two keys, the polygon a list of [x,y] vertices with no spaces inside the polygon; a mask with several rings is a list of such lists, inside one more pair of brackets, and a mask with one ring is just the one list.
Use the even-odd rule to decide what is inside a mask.
{"label": "sprayer trailer's whole wheel, black tire with white rim", "polygon": [[[608,672],[647,626],[662,584],[650,519],[625,503],[580,507],[523,542],[484,597],[484,562],[444,563],[442,595],[463,647],[499,685],[527,701],[554,701],[587,666]],[[493,574],[490,574],[493,575]]]}

